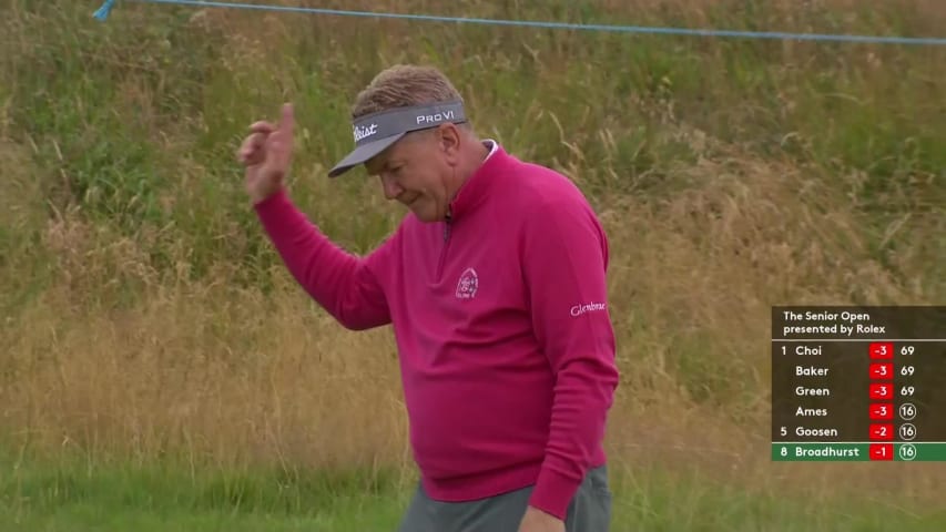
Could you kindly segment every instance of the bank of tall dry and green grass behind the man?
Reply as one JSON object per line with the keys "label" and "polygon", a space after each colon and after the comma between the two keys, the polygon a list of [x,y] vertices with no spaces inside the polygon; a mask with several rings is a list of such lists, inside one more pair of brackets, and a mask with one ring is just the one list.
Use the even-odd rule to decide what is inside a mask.
{"label": "bank of tall dry and green grass behind the man", "polygon": [[[294,102],[293,197],[339,245],[368,252],[403,211],[360,171],[325,172],[349,149],[350,99],[394,62],[443,68],[484,136],[564,172],[601,214],[622,370],[608,434],[622,522],[889,530],[886,519],[915,508],[942,512],[937,464],[776,464],[767,441],[771,305],[946,300],[944,47],[136,2],[100,23],[92,3],[0,7],[0,447],[31,457],[4,464],[0,519],[59,530],[57,520],[114,511],[126,519],[116,529],[157,529],[165,513],[230,526],[242,503],[201,501],[238,471],[263,499],[238,526],[279,512],[274,530],[356,530],[356,509],[396,518],[414,471],[389,330],[343,330],[302,294],[233,157],[251,122]],[[946,27],[933,0],[467,3],[318,6],[806,32]],[[385,488],[279,494],[268,471],[286,468],[385,471]]]}

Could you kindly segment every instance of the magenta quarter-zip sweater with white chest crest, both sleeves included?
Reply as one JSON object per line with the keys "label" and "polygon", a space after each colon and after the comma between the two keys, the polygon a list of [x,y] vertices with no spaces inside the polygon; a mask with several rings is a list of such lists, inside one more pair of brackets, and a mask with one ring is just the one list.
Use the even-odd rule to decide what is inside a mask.
{"label": "magenta quarter-zip sweater with white chest crest, both sleeves included", "polygon": [[586,471],[606,461],[618,386],[608,242],[580,191],[494,145],[447,222],[408,214],[365,257],[285,192],[255,208],[288,270],[343,326],[393,325],[428,497],[535,485],[530,504],[564,519]]}

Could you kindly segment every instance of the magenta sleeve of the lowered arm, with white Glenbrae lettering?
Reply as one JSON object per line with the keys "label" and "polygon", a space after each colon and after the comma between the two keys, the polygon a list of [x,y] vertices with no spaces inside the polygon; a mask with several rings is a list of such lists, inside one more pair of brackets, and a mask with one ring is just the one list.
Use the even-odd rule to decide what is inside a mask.
{"label": "magenta sleeve of the lowered arm, with white Glenbrae lettering", "polygon": [[530,504],[564,519],[600,449],[618,386],[608,243],[578,192],[540,201],[525,219],[522,268],[532,321],[556,375],[546,458]]}

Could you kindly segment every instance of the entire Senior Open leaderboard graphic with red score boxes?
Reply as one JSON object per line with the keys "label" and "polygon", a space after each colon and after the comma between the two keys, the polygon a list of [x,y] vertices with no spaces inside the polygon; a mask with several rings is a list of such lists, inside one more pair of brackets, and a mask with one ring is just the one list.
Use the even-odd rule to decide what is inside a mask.
{"label": "entire Senior Open leaderboard graphic with red score boxes", "polygon": [[772,460],[946,461],[946,306],[773,307]]}

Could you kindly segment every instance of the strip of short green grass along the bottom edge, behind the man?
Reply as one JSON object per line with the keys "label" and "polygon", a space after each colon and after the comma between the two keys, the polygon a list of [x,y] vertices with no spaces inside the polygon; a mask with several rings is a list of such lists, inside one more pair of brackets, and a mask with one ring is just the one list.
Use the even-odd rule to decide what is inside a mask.
{"label": "strip of short green grass along the bottom edge, behind the man", "polygon": [[[410,495],[394,480],[324,471],[2,463],[0,530],[389,532]],[[613,478],[612,478],[613,481]],[[614,481],[612,530],[939,531],[946,512],[817,494],[784,497],[695,475],[642,472]]]}

